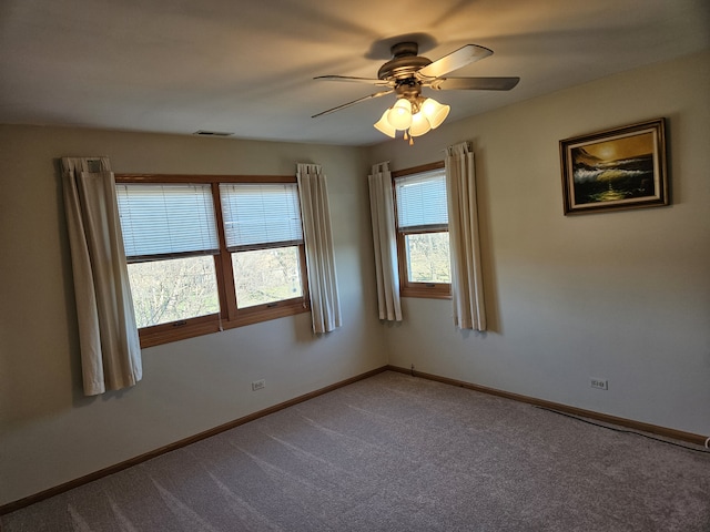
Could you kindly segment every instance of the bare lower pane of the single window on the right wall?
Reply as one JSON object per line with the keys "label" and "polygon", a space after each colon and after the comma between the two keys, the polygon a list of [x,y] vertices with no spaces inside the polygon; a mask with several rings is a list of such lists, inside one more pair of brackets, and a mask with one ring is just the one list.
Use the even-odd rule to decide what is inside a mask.
{"label": "bare lower pane of the single window on the right wall", "polygon": [[448,233],[405,236],[407,276],[410,283],[450,283]]}

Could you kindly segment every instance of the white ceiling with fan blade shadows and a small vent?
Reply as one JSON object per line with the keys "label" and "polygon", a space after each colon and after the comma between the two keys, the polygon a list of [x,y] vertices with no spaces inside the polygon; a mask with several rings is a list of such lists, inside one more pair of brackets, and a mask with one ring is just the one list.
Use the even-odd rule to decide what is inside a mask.
{"label": "white ceiling with fan blade shadows and a small vent", "polygon": [[[446,91],[447,122],[710,48],[708,0],[2,0],[0,123],[365,145],[394,96],[376,78],[397,35],[452,75],[520,76],[510,92]],[[392,102],[389,101],[392,100]]]}

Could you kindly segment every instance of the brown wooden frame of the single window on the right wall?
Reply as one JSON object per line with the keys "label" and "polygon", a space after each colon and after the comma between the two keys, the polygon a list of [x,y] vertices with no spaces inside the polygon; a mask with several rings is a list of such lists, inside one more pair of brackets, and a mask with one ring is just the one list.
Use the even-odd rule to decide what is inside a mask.
{"label": "brown wooden frame of the single window on the right wall", "polygon": [[[407,272],[407,249],[406,249],[406,235],[422,235],[426,233],[442,233],[442,228],[435,229],[419,229],[419,231],[399,231],[397,223],[397,196],[395,180],[397,177],[405,177],[414,174],[423,174],[433,170],[444,168],[444,161],[436,163],[423,164],[420,166],[414,166],[412,168],[398,170],[392,173],[392,197],[395,208],[395,234],[397,237],[397,264],[399,269],[399,295],[402,297],[420,297],[429,299],[450,299],[452,298],[452,284],[450,283],[414,283],[409,280]],[[446,228],[448,233],[448,227]]]}

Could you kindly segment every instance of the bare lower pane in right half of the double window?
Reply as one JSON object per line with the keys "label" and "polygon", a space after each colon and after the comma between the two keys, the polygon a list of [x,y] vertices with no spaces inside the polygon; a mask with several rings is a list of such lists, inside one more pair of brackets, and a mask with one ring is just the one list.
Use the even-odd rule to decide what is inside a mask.
{"label": "bare lower pane in right half of the double window", "polygon": [[232,267],[239,308],[303,296],[297,246],[236,252]]}

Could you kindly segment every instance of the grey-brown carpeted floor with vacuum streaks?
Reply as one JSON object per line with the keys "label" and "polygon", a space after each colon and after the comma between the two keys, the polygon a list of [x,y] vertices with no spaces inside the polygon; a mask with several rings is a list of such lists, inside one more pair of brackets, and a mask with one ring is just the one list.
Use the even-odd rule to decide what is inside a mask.
{"label": "grey-brown carpeted floor with vacuum streaks", "polygon": [[710,453],[387,371],[2,531],[710,531]]}

